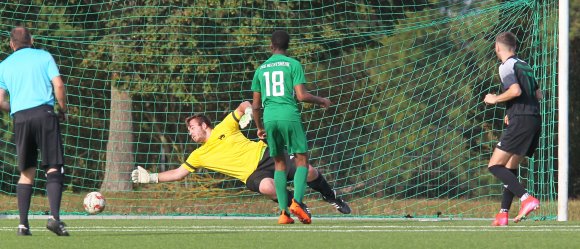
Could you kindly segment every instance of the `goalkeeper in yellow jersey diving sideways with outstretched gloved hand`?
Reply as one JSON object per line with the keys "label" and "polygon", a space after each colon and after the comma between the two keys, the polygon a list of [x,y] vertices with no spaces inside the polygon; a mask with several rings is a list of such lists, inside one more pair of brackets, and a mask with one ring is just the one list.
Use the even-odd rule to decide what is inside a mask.
{"label": "goalkeeper in yellow jersey diving sideways with outstretched gloved hand", "polygon": [[[236,110],[228,114],[215,127],[208,117],[196,114],[185,119],[189,136],[202,145],[195,149],[179,168],[150,173],[141,166],[131,173],[134,183],[161,183],[179,181],[205,168],[239,179],[254,192],[268,196],[277,202],[274,186],[274,159],[270,157],[268,145],[263,141],[252,141],[240,132],[251,121],[251,104],[242,102]],[[293,179],[296,166],[293,158],[287,157],[286,174]],[[324,176],[312,166],[308,166],[307,184],[320,192],[322,198],[339,212],[349,214],[348,204],[336,196]],[[288,194],[291,198],[293,195]],[[288,203],[292,203],[288,201]]]}

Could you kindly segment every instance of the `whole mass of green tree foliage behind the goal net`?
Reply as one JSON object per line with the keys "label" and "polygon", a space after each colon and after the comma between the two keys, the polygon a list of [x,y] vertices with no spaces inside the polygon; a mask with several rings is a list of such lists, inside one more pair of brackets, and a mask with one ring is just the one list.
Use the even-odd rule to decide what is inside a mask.
{"label": "whole mass of green tree foliage behind the goal net", "polygon": [[[188,140],[185,117],[204,112],[221,120],[249,100],[275,29],[291,34],[289,52],[304,64],[307,87],[335,103],[326,111],[305,104],[302,113],[313,163],[332,172],[327,177],[336,185],[352,186],[344,191],[397,197],[495,191],[477,188],[490,182],[485,155],[503,127],[501,107],[471,104],[499,91],[493,37],[483,34],[503,31],[497,20],[513,14],[506,9],[533,13],[525,9],[533,6],[519,6],[524,1],[45,2],[2,3],[0,23],[9,29],[14,20],[33,20],[27,25],[39,45],[61,65],[72,107],[64,132],[67,164],[78,166],[70,172],[75,191],[98,188],[110,170],[105,148],[111,109],[119,108],[111,106],[112,90],[131,102],[127,132],[135,163],[152,171],[177,167],[197,146]],[[520,18],[514,32],[532,36],[536,26],[526,23],[532,19]],[[522,51],[524,58],[533,54]],[[3,44],[0,55],[9,53]],[[5,130],[0,135],[11,139]],[[0,148],[13,154],[9,142]]]}

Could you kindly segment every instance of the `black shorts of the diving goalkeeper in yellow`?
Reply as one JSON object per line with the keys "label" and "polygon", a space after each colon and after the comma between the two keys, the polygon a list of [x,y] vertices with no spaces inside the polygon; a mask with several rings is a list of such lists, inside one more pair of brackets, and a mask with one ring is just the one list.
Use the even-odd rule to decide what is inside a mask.
{"label": "black shorts of the diving goalkeeper in yellow", "polygon": [[[260,193],[260,182],[264,178],[274,179],[275,163],[274,158],[270,156],[270,151],[266,149],[262,160],[258,163],[258,168],[246,180],[246,187],[256,193]],[[296,172],[296,165],[294,160],[286,157],[286,178],[288,181],[294,180],[294,173]]]}

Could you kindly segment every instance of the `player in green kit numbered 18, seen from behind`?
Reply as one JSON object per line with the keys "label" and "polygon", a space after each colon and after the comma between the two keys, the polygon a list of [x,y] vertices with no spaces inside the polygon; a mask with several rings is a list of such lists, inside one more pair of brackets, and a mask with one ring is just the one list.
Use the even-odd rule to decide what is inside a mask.
{"label": "player in green kit numbered 18, seen from behind", "polygon": [[[277,30],[272,34],[270,45],[272,56],[256,70],[252,80],[254,92],[252,109],[258,137],[266,139],[270,156],[275,162],[274,183],[278,204],[282,210],[278,223],[290,223],[288,215],[290,211],[302,223],[310,224],[310,211],[302,202],[308,175],[308,148],[296,100],[318,104],[322,108],[329,107],[331,102],[306,90],[304,86],[306,77],[302,65],[286,55],[289,43],[290,35],[286,31]],[[288,198],[285,150],[296,157],[294,198],[290,208],[286,203]]]}

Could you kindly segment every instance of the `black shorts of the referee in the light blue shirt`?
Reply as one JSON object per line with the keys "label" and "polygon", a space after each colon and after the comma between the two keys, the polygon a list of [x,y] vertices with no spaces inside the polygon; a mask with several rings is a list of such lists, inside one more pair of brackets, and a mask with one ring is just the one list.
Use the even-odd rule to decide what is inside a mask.
{"label": "black shorts of the referee in the light blue shirt", "polygon": [[20,171],[38,166],[39,150],[42,167],[62,167],[64,150],[58,116],[52,106],[41,105],[16,112],[13,123]]}

